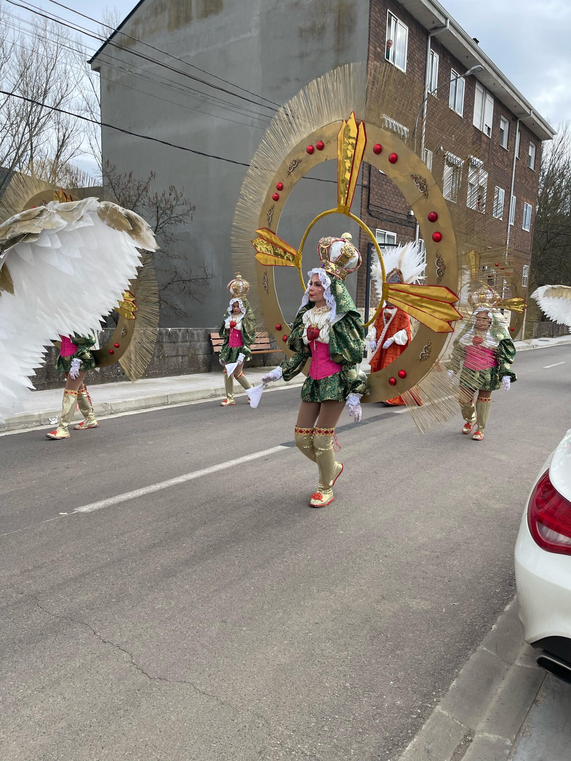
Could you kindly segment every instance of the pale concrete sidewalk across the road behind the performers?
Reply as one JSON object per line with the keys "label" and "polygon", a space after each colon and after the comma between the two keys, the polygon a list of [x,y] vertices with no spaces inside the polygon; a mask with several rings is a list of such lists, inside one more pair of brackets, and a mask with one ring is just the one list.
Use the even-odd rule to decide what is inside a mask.
{"label": "pale concrete sidewalk across the road behind the performers", "polygon": [[[515,348],[520,352],[561,343],[571,343],[571,336],[516,341]],[[267,368],[250,368],[247,370],[247,377],[253,385],[257,385],[262,376],[271,369],[271,365]],[[368,372],[369,368],[366,362],[363,362],[362,369]],[[287,385],[290,388],[301,386],[303,380],[305,379],[301,377],[300,380],[292,380]],[[279,380],[277,383],[270,384],[269,387],[275,388],[285,385],[283,380]],[[145,378],[137,380],[136,383],[127,380],[121,383],[100,384],[91,387],[90,393],[93,396],[95,414],[100,418],[138,409],[151,409],[152,407],[184,404],[225,396],[224,377],[220,371],[174,375],[164,378]],[[234,393],[236,396],[245,394],[238,383],[234,383]],[[4,424],[0,423],[0,433],[53,425],[54,423],[50,423],[50,419],[57,418],[61,409],[62,388],[34,391],[24,402],[23,412],[18,412],[17,415],[7,418]],[[83,419],[79,412],[76,412],[75,417],[78,420]]]}

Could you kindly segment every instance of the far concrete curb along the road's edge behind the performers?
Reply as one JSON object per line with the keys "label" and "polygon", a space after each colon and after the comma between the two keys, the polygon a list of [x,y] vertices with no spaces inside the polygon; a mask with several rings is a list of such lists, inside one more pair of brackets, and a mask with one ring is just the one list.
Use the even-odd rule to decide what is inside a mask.
{"label": "far concrete curb along the road's edge behind the performers", "polygon": [[[273,381],[268,384],[268,389],[279,387],[295,388],[301,386],[301,383],[286,384],[285,380]],[[224,386],[217,386],[208,389],[194,389],[188,391],[173,391],[172,393],[155,393],[149,396],[136,396],[132,399],[119,399],[113,402],[96,402],[93,409],[97,418],[104,418],[111,415],[117,415],[121,412],[133,412],[138,409],[150,409],[152,407],[164,407],[177,404],[184,404],[196,401],[206,401],[216,399],[219,396],[225,396]],[[234,391],[234,396],[245,396],[244,389]],[[50,418],[56,418],[62,411],[61,406],[57,409],[44,409],[41,412],[20,412],[12,418],[7,418],[4,424],[0,424],[0,433],[27,430],[28,428],[39,428],[44,425],[52,425]],[[76,412],[75,420],[82,420],[81,413]]]}

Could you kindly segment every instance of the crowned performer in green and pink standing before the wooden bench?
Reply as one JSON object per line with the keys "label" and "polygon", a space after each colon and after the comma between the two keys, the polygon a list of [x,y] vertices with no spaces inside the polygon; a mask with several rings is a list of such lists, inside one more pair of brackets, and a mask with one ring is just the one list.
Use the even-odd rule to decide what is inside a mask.
{"label": "crowned performer in green and pink standing before the wooden bench", "polygon": [[229,376],[224,370],[224,384],[226,398],[221,403],[222,407],[229,407],[234,401],[234,377],[244,390],[252,387],[250,381],[244,375],[244,361],[252,358],[250,345],[256,340],[256,316],[244,296],[250,290],[250,283],[236,275],[234,280],[228,283],[228,291],[232,298],[228,311],[225,314],[222,325],[219,327],[219,336],[224,339],[220,349],[220,364],[230,365],[238,362],[238,367]]}

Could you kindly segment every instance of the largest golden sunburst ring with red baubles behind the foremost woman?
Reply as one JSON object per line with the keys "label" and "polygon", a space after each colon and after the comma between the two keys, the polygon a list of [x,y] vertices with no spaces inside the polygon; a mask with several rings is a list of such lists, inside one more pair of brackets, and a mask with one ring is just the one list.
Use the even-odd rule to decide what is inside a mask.
{"label": "largest golden sunburst ring with red baubles behind the foremost woman", "polygon": [[[284,345],[285,353],[290,355],[285,346],[289,328],[279,306],[273,267],[295,267],[305,291],[301,255],[305,239],[315,222],[326,215],[339,213],[359,224],[375,245],[381,262],[383,298],[419,321],[419,329],[398,360],[369,375],[371,393],[363,401],[378,402],[403,393],[426,375],[453,330],[451,323],[462,319],[462,316],[453,306],[458,301],[455,293],[458,285],[456,241],[442,190],[423,161],[398,135],[382,126],[381,122],[385,123],[382,119],[375,119],[376,112],[371,103],[367,103],[365,72],[365,67],[359,65],[343,66],[329,72],[310,83],[274,117],[277,126],[270,125],[242,186],[234,215],[233,244],[236,264],[240,269],[246,269],[248,277],[257,282],[258,303],[263,309],[266,325],[270,330],[276,326],[274,336],[279,345]],[[352,89],[348,86],[351,80]],[[362,94],[359,110],[356,109],[359,97],[355,92]],[[308,127],[307,132],[303,132],[299,124],[302,118],[300,112],[306,108],[305,100],[310,95],[324,104],[323,115],[320,116],[319,109],[312,106],[308,124],[314,129]],[[331,118],[337,116],[332,103],[337,103],[339,118]],[[352,105],[351,110],[346,103]],[[286,128],[286,124],[282,123],[284,114],[295,122],[292,131],[299,136],[295,145],[288,145],[288,141],[283,139]],[[386,121],[386,116],[384,119]],[[280,129],[281,142],[277,139]],[[281,154],[280,145],[285,146]],[[278,156],[280,162],[276,160]],[[338,204],[335,209],[327,209],[317,215],[305,232],[301,245],[296,248],[278,236],[279,218],[298,181],[324,161],[337,161]],[[382,254],[375,236],[361,219],[349,211],[362,161],[383,171],[413,210],[426,243],[426,285],[385,281]],[[250,247],[248,259],[244,249],[245,235],[247,222],[254,218],[258,223],[257,237],[251,240],[252,230],[250,240],[254,250]],[[381,307],[382,301],[367,324],[375,320]]]}

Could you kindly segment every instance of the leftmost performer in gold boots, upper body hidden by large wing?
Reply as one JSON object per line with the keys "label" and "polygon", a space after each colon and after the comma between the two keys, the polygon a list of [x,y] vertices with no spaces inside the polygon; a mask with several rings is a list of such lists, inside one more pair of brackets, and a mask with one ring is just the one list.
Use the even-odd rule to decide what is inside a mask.
{"label": "leftmost performer in gold boots, upper body hidden by large wing", "polygon": [[59,349],[59,357],[56,361],[56,370],[65,373],[65,389],[63,391],[62,414],[59,417],[58,427],[55,431],[46,433],[47,438],[69,438],[69,424],[75,415],[75,407],[78,406],[85,420],[74,425],[76,431],[85,428],[97,428],[99,423],[95,419],[91,397],[83,383],[88,370],[95,367],[95,358],[91,349],[97,342],[94,335],[61,336],[62,344]]}

